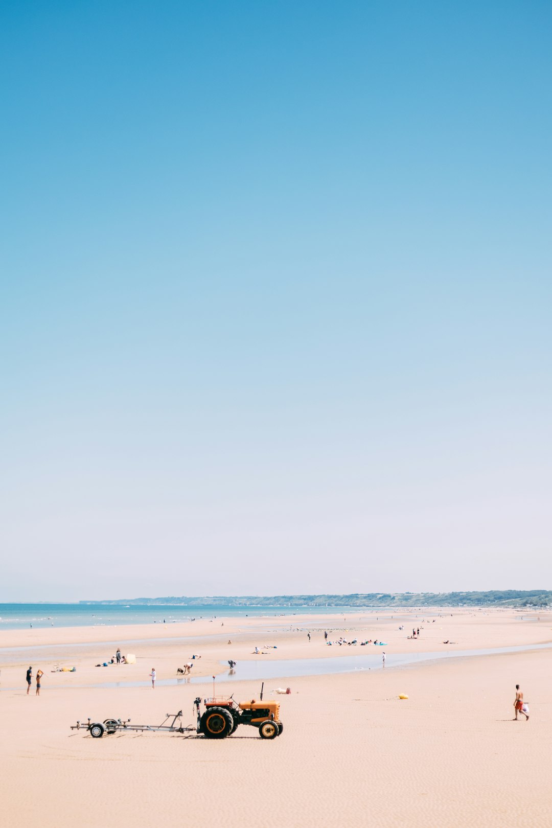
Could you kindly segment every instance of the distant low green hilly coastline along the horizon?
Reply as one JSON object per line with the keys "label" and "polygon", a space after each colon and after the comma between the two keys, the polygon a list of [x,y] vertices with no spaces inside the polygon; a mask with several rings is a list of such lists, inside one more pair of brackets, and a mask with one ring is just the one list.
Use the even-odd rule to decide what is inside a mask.
{"label": "distant low green hilly coastline along the horizon", "polygon": [[79,604],[123,604],[224,607],[546,607],[552,590],[490,590],[488,592],[373,592],[353,595],[209,595],[79,601]]}

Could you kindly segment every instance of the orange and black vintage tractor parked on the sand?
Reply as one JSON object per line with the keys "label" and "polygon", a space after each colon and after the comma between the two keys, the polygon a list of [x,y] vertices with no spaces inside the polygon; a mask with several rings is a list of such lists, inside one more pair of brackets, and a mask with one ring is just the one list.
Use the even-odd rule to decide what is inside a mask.
{"label": "orange and black vintage tractor parked on the sand", "polygon": [[280,705],[277,701],[240,701],[232,696],[214,696],[204,700],[203,715],[199,710],[201,699],[194,701],[198,717],[198,733],[207,739],[226,739],[238,724],[251,724],[259,730],[261,739],[276,739],[284,729],[280,721]]}

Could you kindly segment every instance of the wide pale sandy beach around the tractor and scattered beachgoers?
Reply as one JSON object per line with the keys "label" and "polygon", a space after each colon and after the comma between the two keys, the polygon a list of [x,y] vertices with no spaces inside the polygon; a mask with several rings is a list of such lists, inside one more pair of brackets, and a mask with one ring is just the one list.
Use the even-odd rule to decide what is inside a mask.
{"label": "wide pale sandy beach around the tractor and scattered beachgoers", "polygon": [[[418,627],[420,638],[406,638]],[[329,647],[324,630],[332,641],[385,641],[386,668],[382,647]],[[551,652],[530,645],[551,640],[550,614],[489,609],[2,633],[4,824],[550,826]],[[117,646],[137,663],[94,666]],[[256,646],[265,654],[254,655]],[[393,667],[401,653],[506,646],[528,649]],[[280,700],[284,723],[274,741],[247,727],[222,741],[131,732],[92,739],[70,730],[88,717],[155,724],[180,709],[183,724],[194,724],[194,697],[211,695],[213,674],[218,694],[247,700],[260,687],[239,680],[246,662],[376,650],[369,670],[267,681],[266,697]],[[176,684],[176,667],[192,654],[201,656],[192,676],[209,683]],[[233,681],[221,663],[228,658],[238,662]],[[29,664],[45,672],[40,697],[34,681],[26,696]],[[55,664],[77,670],[50,672]],[[171,683],[152,690],[151,667]],[[98,686],[113,682],[119,686]],[[516,683],[530,703],[529,722],[512,721]],[[290,686],[290,695],[274,696],[278,686]]]}

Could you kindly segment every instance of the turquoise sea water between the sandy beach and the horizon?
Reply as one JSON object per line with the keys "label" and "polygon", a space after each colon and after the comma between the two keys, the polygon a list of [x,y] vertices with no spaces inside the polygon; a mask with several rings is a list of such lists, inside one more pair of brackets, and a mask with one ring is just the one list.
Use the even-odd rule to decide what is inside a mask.
{"label": "turquoise sea water between the sandy beach and the horizon", "polygon": [[112,627],[114,624],[183,623],[190,619],[245,618],[246,615],[275,618],[281,615],[360,614],[361,607],[225,607],[146,606],[119,604],[0,604],[2,629],[41,627]]}

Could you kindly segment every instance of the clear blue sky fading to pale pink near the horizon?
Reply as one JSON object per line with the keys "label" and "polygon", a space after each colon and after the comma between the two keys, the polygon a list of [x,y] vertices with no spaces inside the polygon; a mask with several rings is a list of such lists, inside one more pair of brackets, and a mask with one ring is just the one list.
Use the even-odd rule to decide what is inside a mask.
{"label": "clear blue sky fading to pale pink near the horizon", "polygon": [[4,2],[2,600],[551,585],[548,2]]}

